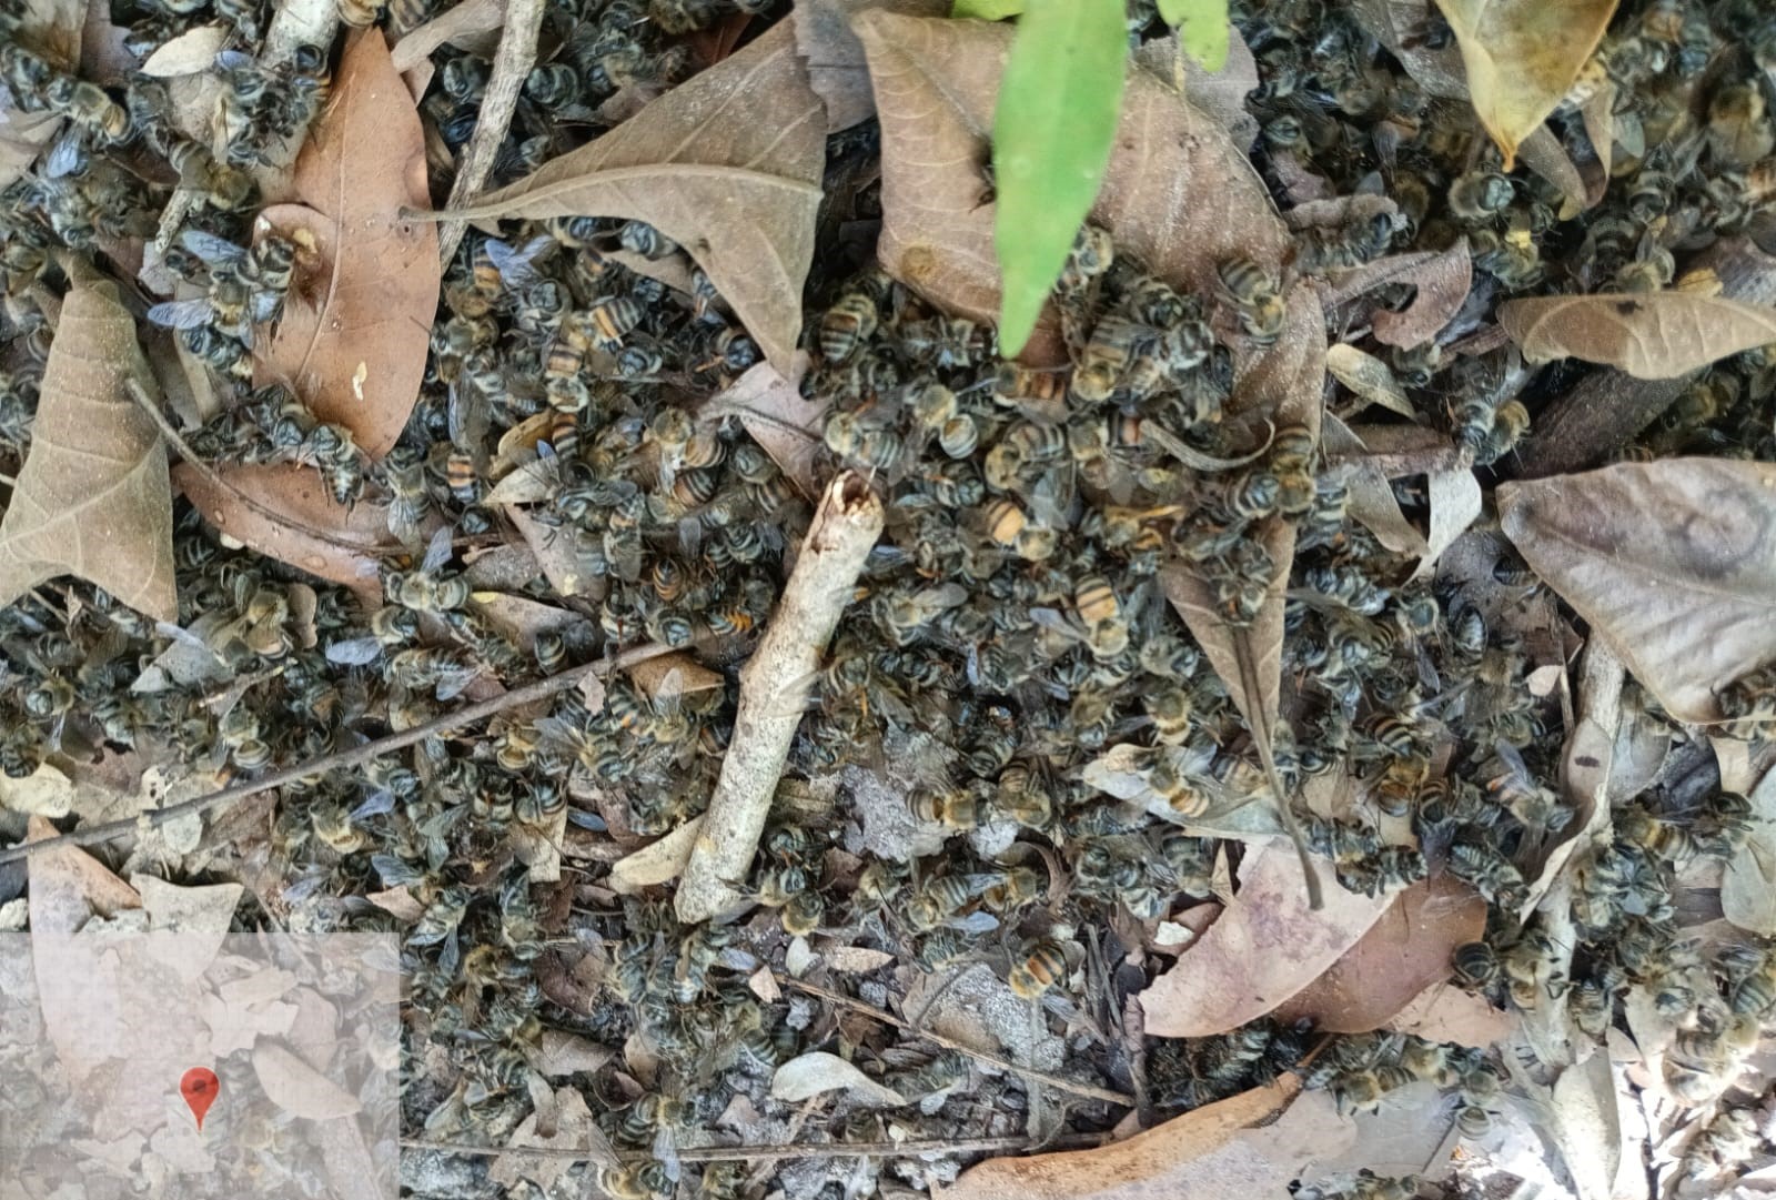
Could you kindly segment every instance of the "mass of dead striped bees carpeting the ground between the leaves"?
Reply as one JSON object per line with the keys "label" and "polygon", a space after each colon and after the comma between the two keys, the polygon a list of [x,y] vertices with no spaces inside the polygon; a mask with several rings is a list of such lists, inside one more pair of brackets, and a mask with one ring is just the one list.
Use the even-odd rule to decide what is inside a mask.
{"label": "mass of dead striped bees carpeting the ground between the leaves", "polygon": [[[618,89],[682,80],[694,62],[678,34],[760,7],[769,5],[552,4],[545,44],[554,50],[526,83],[494,183],[595,131],[599,107]],[[1131,36],[1162,32],[1151,9],[1151,0],[1131,4]],[[410,28],[424,5],[352,4],[345,16]],[[1755,0],[1623,5],[1591,73],[1620,96],[1614,179],[1602,206],[1568,220],[1550,185],[1499,170],[1465,103],[1426,96],[1343,5],[1234,4],[1234,16],[1261,73],[1249,108],[1261,121],[1254,158],[1266,179],[1280,193],[1284,176],[1305,170],[1339,193],[1384,193],[1398,206],[1380,222],[1314,231],[1296,266],[1334,270],[1465,236],[1476,284],[1446,344],[1510,295],[1668,286],[1684,256],[1776,202],[1764,75],[1776,66],[1776,16]],[[245,249],[250,169],[325,103],[332,55],[302,48],[258,67],[265,12],[238,2],[217,0],[211,11],[156,0],[130,30],[153,48],[213,20],[234,30],[218,101],[231,137],[220,154],[169,124],[158,82],[144,76],[115,96],[0,39],[14,96],[67,119],[44,162],[0,193],[4,469],[16,472],[28,447],[52,336],[41,300],[64,286],[53,254],[101,254],[112,240],[153,234],[172,186],[201,181],[202,202],[165,261],[186,295],[146,312],[236,398],[192,433],[192,446],[217,462],[311,465],[341,504],[385,499],[391,531],[412,550],[387,563],[384,607],[361,612],[343,589],[300,584],[220,547],[185,513],[179,625],[238,678],[256,680],[229,705],[206,705],[213,685],[202,682],[162,678],[158,691],[133,691],[169,639],[91,588],[39,589],[0,612],[0,651],[16,682],[0,691],[0,767],[18,776],[52,753],[170,744],[194,763],[258,772],[412,728],[480,676],[510,687],[645,643],[744,655],[810,508],[735,419],[698,419],[698,403],[758,359],[707,277],[693,270],[689,293],[654,279],[662,272],[652,266],[678,250],[643,222],[574,218],[471,234],[446,275],[414,417],[400,446],[366,467],[350,433],[316,421],[286,389],[247,392],[243,383],[245,330],[277,312],[293,257],[275,238]],[[1424,44],[1447,37],[1433,11]],[[442,199],[488,62],[444,48],[435,64],[421,108]],[[1577,114],[1556,114],[1556,128],[1577,158],[1591,153]],[[876,153],[867,128],[833,146],[835,162]],[[865,188],[852,211],[822,227],[879,217],[872,206]],[[844,261],[831,241],[817,263]],[[1087,962],[1117,962],[1130,946],[1117,948],[1114,918],[1156,921],[1206,898],[1218,854],[1236,847],[1115,804],[1080,770],[1110,747],[1135,746],[1147,785],[1179,820],[1227,797],[1273,802],[1227,687],[1174,614],[1160,573],[1186,563],[1227,621],[1249,623],[1279,566],[1252,531],[1279,517],[1296,531],[1282,651],[1291,733],[1279,733],[1279,776],[1300,797],[1312,779],[1350,770],[1360,797],[1337,818],[1298,813],[1321,866],[1369,895],[1428,873],[1465,880],[1494,920],[1483,943],[1456,953],[1460,983],[1518,1008],[1565,989],[1593,1037],[1639,989],[1680,1028],[1664,1067],[1671,1090],[1705,1102],[1728,1086],[1776,1005],[1776,955],[1705,955],[1684,943],[1673,893],[1687,861],[1726,856],[1742,840],[1746,801],[1701,779],[1621,808],[1614,845],[1579,866],[1570,914],[1579,948],[1556,973],[1543,918],[1522,927],[1517,909],[1540,845],[1572,820],[1554,792],[1558,707],[1531,692],[1533,662],[1511,623],[1487,616],[1501,595],[1520,600],[1536,580],[1499,541],[1487,579],[1414,582],[1415,563],[1350,517],[1346,479],[1323,467],[1304,428],[1273,430],[1256,458],[1231,444],[1233,355],[1217,330],[1273,341],[1286,280],[1231,259],[1213,295],[1179,293],[1087,229],[1057,289],[1076,360],[1043,373],[1000,360],[989,328],[936,312],[879,273],[821,270],[815,288],[829,304],[808,320],[815,367],[805,391],[831,401],[829,465],[867,470],[890,518],[828,655],[790,776],[821,781],[874,767],[884,742],[922,747],[920,785],[906,802],[941,850],[868,854],[854,836],[865,818],[844,790],[831,801],[836,811],[824,811],[785,788],[751,879],[765,916],[680,927],[661,895],[595,916],[545,911],[501,850],[508,831],[549,827],[567,808],[586,829],[654,836],[702,811],[732,735],[735,657],[705,655],[725,667],[725,687],[654,699],[616,676],[597,712],[565,692],[547,714],[508,715],[487,737],[432,738],[362,772],[286,788],[265,847],[291,880],[281,916],[392,928],[391,918],[341,898],[398,886],[424,907],[401,930],[412,982],[410,1127],[501,1143],[529,1108],[526,1079],[545,1024],[609,1046],[638,1038],[659,1060],[650,1088],[625,1092],[627,1078],[584,1083],[613,1140],[655,1157],[602,1172],[602,1186],[639,1200],[696,1177],[707,1195],[739,1195],[742,1172],[680,1164],[673,1147],[710,1140],[735,1095],[773,1111],[765,1086],[778,1063],[849,1037],[817,1001],[767,1003],[746,983],[760,964],[780,966],[790,939],[817,930],[925,973],[989,962],[1055,1021],[1078,1007],[1121,1014],[1146,976],[1085,969],[1082,946],[1094,950]],[[1510,470],[1531,414],[1559,383],[1526,389],[1529,376],[1508,371],[1502,355],[1462,357],[1437,343],[1391,355],[1424,422],[1446,430],[1483,472]],[[1629,453],[1772,458],[1772,391],[1776,362],[1728,360]],[[535,421],[547,422],[554,483],[529,517],[572,549],[593,588],[577,602],[588,621],[540,636],[531,651],[471,604],[490,584],[460,550],[510,540],[483,499],[501,438]],[[1396,499],[1408,517],[1426,517],[1421,485],[1401,481]],[[430,549],[428,522],[448,531]],[[556,598],[547,584],[524,586]],[[1737,731],[1755,735],[1772,698],[1771,680],[1742,682]],[[838,852],[860,856],[860,870],[835,873]],[[563,939],[607,948],[590,1012],[554,1003],[538,980],[536,964]],[[849,1049],[922,1101],[918,1115],[895,1118],[902,1129],[927,1122],[932,1134],[957,1136],[1021,1124],[1016,1079],[982,1078],[955,1054]],[[1431,1081],[1453,1097],[1467,1136],[1485,1133],[1504,1086],[1502,1069],[1479,1051],[1403,1035],[1327,1044],[1311,1030],[1257,1022],[1220,1038],[1154,1042],[1147,1088],[1162,1115],[1181,1111],[1295,1069],[1316,1049],[1311,1086],[1366,1108]],[[1071,1042],[1067,1070],[1130,1085],[1130,1063],[1092,1038]],[[998,1117],[979,1115],[982,1097]],[[1103,1106],[1073,1113],[1082,1129],[1115,1117]],[[870,1113],[840,1109],[829,1125],[819,1136],[884,1136]],[[1730,1172],[1732,1154],[1758,1136],[1732,1115],[1716,1125],[1698,1173]],[[925,1180],[922,1168],[890,1170]],[[1410,1180],[1371,1175],[1316,1195],[1408,1189]]]}

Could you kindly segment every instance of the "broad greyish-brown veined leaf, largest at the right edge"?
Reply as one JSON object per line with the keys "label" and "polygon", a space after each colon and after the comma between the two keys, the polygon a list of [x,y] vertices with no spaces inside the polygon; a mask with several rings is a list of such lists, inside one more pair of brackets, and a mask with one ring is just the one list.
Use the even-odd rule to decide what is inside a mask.
{"label": "broad greyish-brown veined leaf, largest at the right edge", "polygon": [[1499,517],[1547,584],[1680,721],[1776,659],[1776,467],[1621,463],[1499,486]]}

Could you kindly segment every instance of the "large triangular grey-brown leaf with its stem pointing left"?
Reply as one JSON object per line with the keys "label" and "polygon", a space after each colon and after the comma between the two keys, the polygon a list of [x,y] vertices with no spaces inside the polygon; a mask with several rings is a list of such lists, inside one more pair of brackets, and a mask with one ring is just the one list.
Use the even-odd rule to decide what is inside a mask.
{"label": "large triangular grey-brown leaf with its stem pointing left", "polygon": [[826,108],[783,23],[465,215],[645,220],[709,272],[789,371],[824,162]]}

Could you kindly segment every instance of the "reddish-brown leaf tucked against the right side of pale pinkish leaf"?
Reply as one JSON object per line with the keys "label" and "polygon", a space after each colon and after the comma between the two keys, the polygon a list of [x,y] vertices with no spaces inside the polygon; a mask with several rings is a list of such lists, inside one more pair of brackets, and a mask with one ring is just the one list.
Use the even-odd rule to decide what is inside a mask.
{"label": "reddish-brown leaf tucked against the right side of pale pinkish leaf", "polygon": [[1291,996],[1279,1021],[1312,1017],[1328,1033],[1368,1033],[1430,985],[1449,978],[1449,953],[1487,932],[1487,902],[1449,875],[1419,880],[1325,975]]}

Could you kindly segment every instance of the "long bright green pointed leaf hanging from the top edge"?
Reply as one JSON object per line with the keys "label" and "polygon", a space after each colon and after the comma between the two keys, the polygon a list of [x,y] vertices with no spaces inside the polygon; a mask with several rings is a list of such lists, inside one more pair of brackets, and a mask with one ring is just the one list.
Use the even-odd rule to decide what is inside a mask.
{"label": "long bright green pointed leaf hanging from the top edge", "polygon": [[1122,110],[1126,57],[1122,0],[1027,0],[993,108],[1003,355],[1030,339],[1098,199]]}

